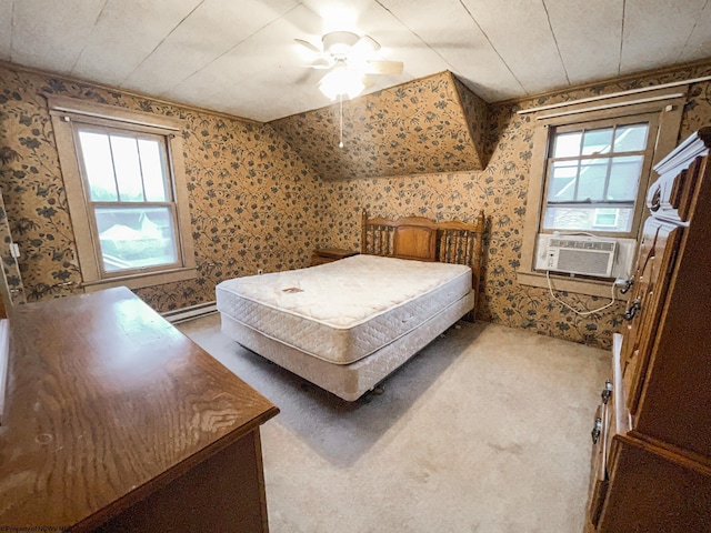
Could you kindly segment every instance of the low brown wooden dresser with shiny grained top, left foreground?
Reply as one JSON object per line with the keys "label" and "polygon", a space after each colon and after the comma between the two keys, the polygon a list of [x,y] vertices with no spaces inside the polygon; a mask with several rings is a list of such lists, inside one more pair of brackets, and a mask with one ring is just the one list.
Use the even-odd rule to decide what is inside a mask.
{"label": "low brown wooden dresser with shiny grained top, left foreground", "polygon": [[268,531],[268,400],[124,288],[9,321],[0,529]]}

